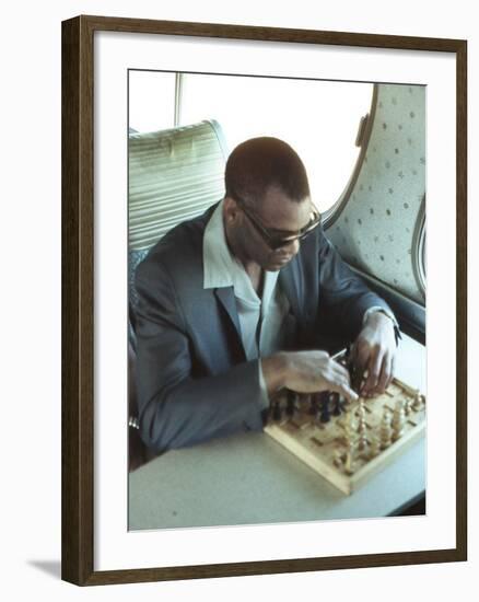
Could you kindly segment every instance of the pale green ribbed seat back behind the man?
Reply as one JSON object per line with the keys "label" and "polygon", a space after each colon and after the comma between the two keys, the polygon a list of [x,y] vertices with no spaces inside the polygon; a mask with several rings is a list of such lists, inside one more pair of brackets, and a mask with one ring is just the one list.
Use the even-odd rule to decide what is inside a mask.
{"label": "pale green ribbed seat back behind the man", "polygon": [[[135,273],[149,250],[173,227],[202,213],[224,196],[226,144],[214,120],[173,129],[129,134],[128,298],[130,470],[143,463],[138,451],[135,386]],[[135,444],[133,444],[135,442]],[[136,458],[131,458],[131,453]]]}

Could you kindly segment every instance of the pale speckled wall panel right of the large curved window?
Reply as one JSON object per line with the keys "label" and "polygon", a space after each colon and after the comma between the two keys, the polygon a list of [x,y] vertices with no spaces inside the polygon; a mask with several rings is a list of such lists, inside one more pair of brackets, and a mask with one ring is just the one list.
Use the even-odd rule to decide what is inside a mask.
{"label": "pale speckled wall panel right of the large curved window", "polygon": [[352,266],[424,304],[425,88],[379,84],[371,118],[360,172],[327,234]]}

